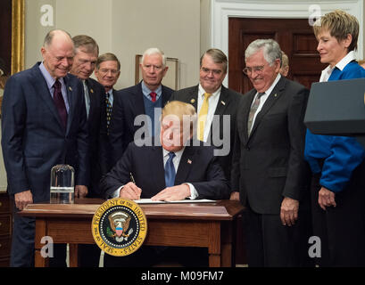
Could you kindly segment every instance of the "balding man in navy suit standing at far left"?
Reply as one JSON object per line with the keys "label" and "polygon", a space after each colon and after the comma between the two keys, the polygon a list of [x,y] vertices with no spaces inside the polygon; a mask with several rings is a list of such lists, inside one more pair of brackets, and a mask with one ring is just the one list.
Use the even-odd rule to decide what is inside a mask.
{"label": "balding man in navy suit standing at far left", "polygon": [[[49,201],[51,168],[75,168],[75,196],[88,184],[87,118],[82,84],[68,74],[74,45],[53,30],[41,48],[43,62],[10,77],[2,107],[2,147],[8,192],[17,210]],[[35,219],[14,215],[11,266],[34,265]],[[54,258],[59,259],[54,246]],[[65,265],[65,248],[63,247]]]}

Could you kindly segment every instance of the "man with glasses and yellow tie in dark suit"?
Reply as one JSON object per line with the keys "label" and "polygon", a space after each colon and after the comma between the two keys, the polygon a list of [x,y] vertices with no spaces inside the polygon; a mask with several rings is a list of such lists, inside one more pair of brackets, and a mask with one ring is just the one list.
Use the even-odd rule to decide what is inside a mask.
{"label": "man with glasses and yellow tie in dark suit", "polygon": [[236,109],[242,94],[222,85],[228,60],[219,49],[209,49],[200,59],[200,83],[178,90],[170,101],[191,103],[199,114],[198,139],[220,149],[216,154],[229,180],[232,161]]}

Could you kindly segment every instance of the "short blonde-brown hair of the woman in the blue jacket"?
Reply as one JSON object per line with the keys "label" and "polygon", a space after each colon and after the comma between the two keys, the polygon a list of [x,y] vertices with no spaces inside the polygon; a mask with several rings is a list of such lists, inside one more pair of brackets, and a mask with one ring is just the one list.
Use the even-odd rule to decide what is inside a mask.
{"label": "short blonde-brown hair of the woman in the blue jacket", "polygon": [[316,20],[313,25],[316,37],[324,30],[328,30],[331,37],[336,37],[337,42],[344,40],[350,34],[353,40],[348,47],[348,51],[351,52],[357,49],[359,21],[353,15],[342,10],[328,12],[319,20]]}

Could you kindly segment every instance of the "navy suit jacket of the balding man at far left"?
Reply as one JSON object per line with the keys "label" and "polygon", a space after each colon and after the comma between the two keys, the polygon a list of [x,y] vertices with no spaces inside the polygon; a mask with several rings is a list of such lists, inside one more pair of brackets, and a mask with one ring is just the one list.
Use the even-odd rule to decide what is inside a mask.
{"label": "navy suit jacket of the balding man at far left", "polygon": [[2,106],[2,147],[10,194],[30,190],[34,202],[49,200],[51,168],[75,168],[75,184],[88,183],[87,117],[83,86],[64,77],[70,110],[66,130],[38,62],[10,77]]}

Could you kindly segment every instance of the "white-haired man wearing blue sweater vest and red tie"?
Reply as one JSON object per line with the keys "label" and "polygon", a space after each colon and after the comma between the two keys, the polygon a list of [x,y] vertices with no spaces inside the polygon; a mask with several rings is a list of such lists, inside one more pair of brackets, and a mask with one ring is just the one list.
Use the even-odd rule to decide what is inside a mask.
{"label": "white-haired man wearing blue sweater vest and red tie", "polygon": [[[140,133],[137,133],[138,138],[159,134],[160,124],[154,122],[158,122],[161,109],[173,92],[161,84],[168,67],[166,57],[160,49],[147,49],[139,66],[143,80],[137,85],[117,91],[114,96],[109,132],[113,165],[120,159],[129,142],[134,141],[139,128],[141,129]],[[137,117],[141,118],[141,121],[135,124]]]}

